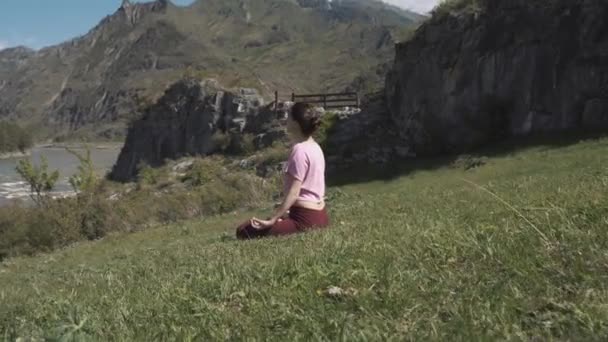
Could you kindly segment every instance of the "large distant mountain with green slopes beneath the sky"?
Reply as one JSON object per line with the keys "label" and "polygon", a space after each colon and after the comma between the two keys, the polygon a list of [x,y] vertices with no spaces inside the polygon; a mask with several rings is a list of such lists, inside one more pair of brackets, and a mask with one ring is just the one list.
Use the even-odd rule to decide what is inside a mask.
{"label": "large distant mountain with green slopes beneath the sky", "polygon": [[352,88],[419,18],[372,0],[124,0],[82,37],[1,51],[0,118],[112,138],[184,76],[266,97]]}

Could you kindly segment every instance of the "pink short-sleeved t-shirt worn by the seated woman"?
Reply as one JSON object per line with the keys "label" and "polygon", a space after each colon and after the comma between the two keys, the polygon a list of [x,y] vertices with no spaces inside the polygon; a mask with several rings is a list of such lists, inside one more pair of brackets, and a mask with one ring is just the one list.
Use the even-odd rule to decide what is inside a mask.
{"label": "pink short-sleeved t-shirt worn by the seated woman", "polygon": [[[325,157],[321,146],[313,140],[294,145],[287,161],[286,173],[302,181],[298,200],[320,202],[325,198]],[[285,178],[285,193],[289,190]]]}

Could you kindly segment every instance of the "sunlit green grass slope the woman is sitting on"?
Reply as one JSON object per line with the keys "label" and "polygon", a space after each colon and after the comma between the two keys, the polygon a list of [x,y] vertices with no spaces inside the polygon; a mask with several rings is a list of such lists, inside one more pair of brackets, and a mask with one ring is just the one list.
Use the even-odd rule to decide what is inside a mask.
{"label": "sunlit green grass slope the woman is sitting on", "polygon": [[237,242],[234,213],[10,259],[0,336],[606,340],[607,149],[332,188],[325,232]]}

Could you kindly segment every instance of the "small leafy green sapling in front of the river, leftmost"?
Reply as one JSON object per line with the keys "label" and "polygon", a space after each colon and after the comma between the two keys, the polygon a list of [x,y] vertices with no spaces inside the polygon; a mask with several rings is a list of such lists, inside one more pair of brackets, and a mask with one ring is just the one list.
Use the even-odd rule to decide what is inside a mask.
{"label": "small leafy green sapling in front of the river, leftmost", "polygon": [[30,186],[30,197],[38,206],[46,205],[46,194],[53,190],[59,179],[59,171],[48,171],[49,164],[44,156],[40,158],[40,165],[32,164],[29,159],[22,159],[17,163],[15,170]]}

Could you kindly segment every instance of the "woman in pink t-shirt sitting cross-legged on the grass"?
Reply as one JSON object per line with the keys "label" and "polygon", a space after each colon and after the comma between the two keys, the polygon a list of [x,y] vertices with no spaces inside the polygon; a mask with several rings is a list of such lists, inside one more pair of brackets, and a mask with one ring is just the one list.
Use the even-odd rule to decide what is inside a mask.
{"label": "woman in pink t-shirt sitting cross-legged on the grass", "polygon": [[270,219],[254,217],[242,224],[237,238],[288,235],[329,225],[324,201],[325,157],[312,138],[320,123],[321,116],[311,105],[293,105],[287,132],[294,145],[285,169],[283,202]]}

